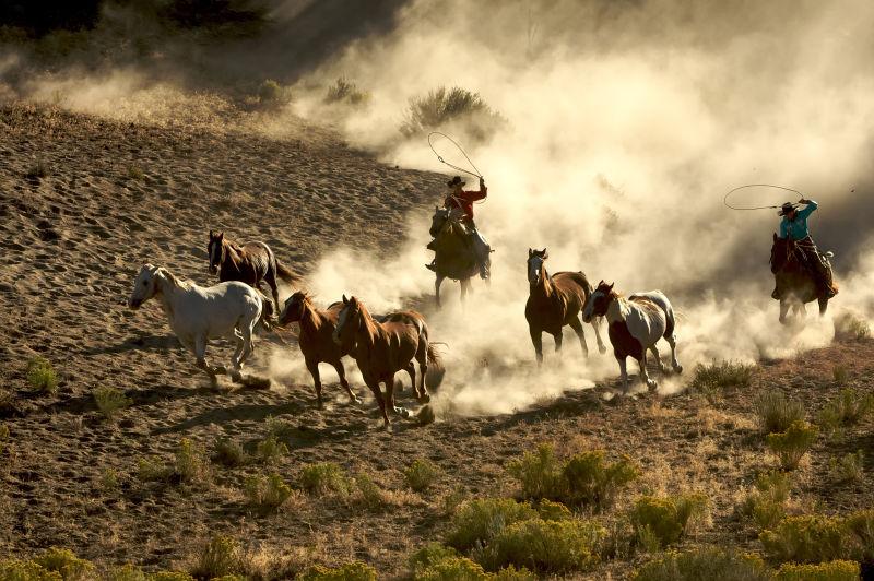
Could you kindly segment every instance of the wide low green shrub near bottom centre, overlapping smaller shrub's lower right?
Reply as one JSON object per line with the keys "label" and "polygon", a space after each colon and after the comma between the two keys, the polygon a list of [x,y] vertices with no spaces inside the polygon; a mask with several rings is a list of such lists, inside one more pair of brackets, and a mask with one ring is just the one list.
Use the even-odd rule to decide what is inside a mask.
{"label": "wide low green shrub near bottom centre, overlapping smaller shrub's lower right", "polygon": [[531,519],[506,526],[473,556],[489,570],[511,565],[538,573],[586,571],[599,562],[604,535],[588,521]]}

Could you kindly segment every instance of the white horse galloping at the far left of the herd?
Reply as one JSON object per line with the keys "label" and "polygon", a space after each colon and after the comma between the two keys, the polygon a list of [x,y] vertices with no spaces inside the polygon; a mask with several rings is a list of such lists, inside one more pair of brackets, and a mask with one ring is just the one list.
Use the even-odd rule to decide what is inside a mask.
{"label": "white horse galloping at the far left of the herd", "polygon": [[190,281],[179,281],[167,269],[143,264],[133,283],[128,306],[139,309],[157,297],[179,342],[194,354],[198,367],[206,371],[215,384],[221,367],[206,365],[206,343],[210,339],[234,337],[237,351],[232,359],[233,376],[239,378],[243,361],[252,353],[252,332],[262,319],[264,298],[246,283],[226,282],[202,287]]}

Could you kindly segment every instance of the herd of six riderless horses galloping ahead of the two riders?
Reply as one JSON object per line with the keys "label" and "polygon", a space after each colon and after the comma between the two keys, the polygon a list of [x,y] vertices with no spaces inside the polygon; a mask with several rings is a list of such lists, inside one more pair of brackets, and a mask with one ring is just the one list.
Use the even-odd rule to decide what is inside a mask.
{"label": "herd of six riderless horses galloping ahead of the two riders", "polygon": [[[208,253],[210,272],[218,274],[218,284],[202,287],[177,278],[165,268],[143,264],[128,305],[137,309],[150,298],[156,298],[170,329],[182,346],[194,354],[198,367],[206,372],[213,386],[217,376],[228,374],[228,370],[206,363],[206,345],[211,339],[231,337],[235,341],[229,375],[238,381],[241,379],[240,369],[253,351],[256,327],[260,323],[272,330],[275,325],[292,322],[297,322],[300,328],[298,346],[312,376],[319,407],[322,405],[320,363],[333,366],[350,399],[359,402],[345,377],[342,363],[345,355],[357,363],[365,383],[379,404],[386,427],[390,424],[389,412],[402,417],[408,415],[394,402],[395,374],[406,371],[410,375],[420,403],[430,400],[428,388],[439,386],[445,369],[435,352],[435,344],[429,340],[425,318],[420,312],[402,310],[371,315],[361,299],[355,296],[346,298],[345,295],[342,301],[319,309],[306,293],[299,290],[280,308],[277,281],[293,284],[295,277],[265,244],[237,245],[225,238],[224,233],[210,230]],[[619,364],[624,390],[628,389],[625,365],[628,356],[638,361],[641,380],[651,389],[657,387],[647,375],[647,352],[652,352],[659,367],[665,371],[656,346],[661,337],[671,346],[674,371],[682,371],[676,358],[674,312],[661,292],[638,293],[625,298],[613,289],[612,284],[603,281],[593,289],[581,272],[550,275],[545,268],[547,258],[546,249],[529,249],[530,294],[524,315],[539,366],[543,361],[542,333],[545,331],[553,335],[555,351],[559,352],[562,331],[566,325],[576,332],[583,355],[588,356],[582,324],[591,324],[599,351],[605,353],[600,328],[606,319],[607,335]],[[462,278],[453,274],[449,277]],[[438,306],[440,278],[438,274]],[[259,288],[261,282],[270,287],[273,303]],[[385,395],[380,383],[386,386]]]}

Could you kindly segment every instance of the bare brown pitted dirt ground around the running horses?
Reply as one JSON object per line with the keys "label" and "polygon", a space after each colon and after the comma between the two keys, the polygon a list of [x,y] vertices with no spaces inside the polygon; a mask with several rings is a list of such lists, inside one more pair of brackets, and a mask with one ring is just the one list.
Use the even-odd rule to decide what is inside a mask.
{"label": "bare brown pitted dirt ground around the running horses", "polygon": [[[37,163],[42,177],[34,175],[42,173],[34,171]],[[757,471],[776,465],[756,425],[755,395],[780,389],[815,418],[839,391],[835,366],[846,367],[847,386],[874,391],[874,341],[843,340],[763,364],[748,391],[716,401],[695,393],[605,401],[599,387],[510,415],[398,422],[387,432],[369,395],[352,405],[330,381],[321,411],[309,383],[223,382],[213,390],[156,305],[126,307],[146,260],[206,283],[210,228],[268,242],[300,275],[340,242],[390,252],[403,236],[403,216],[426,212],[442,179],[382,165],[328,131],[310,141],[268,139],[28,105],[1,109],[0,422],[10,437],[0,458],[0,556],[61,546],[102,566],[167,569],[185,566],[222,532],[277,555],[361,559],[381,577],[399,577],[413,550],[441,537],[449,497],[459,489],[468,497],[513,495],[506,463],[540,442],[636,460],[643,477],[614,514],[638,493],[701,490],[712,501],[712,524],[684,543],[760,552],[755,530],[735,513]],[[271,342],[261,339],[262,346]],[[267,351],[257,355],[256,371],[267,365]],[[37,355],[60,375],[55,395],[28,386],[27,361]],[[99,387],[133,401],[118,422],[97,412],[92,393]],[[365,395],[363,386],[355,389]],[[211,450],[225,436],[253,450],[268,418],[286,424],[290,449],[271,471],[294,482],[305,464],[336,462],[383,486],[388,507],[296,495],[277,512],[260,514],[241,493],[247,476],[263,472],[257,464],[216,464],[209,482],[192,485],[137,476],[140,459],[169,460],[182,438]],[[793,506],[829,514],[874,506],[874,454],[861,484],[829,477],[832,456],[860,449],[874,451],[870,423],[840,439],[819,438],[794,476]],[[409,490],[402,475],[417,458],[442,471],[423,495]],[[106,486],[107,474],[117,475],[117,487]],[[642,560],[605,562],[591,577],[625,578]]]}

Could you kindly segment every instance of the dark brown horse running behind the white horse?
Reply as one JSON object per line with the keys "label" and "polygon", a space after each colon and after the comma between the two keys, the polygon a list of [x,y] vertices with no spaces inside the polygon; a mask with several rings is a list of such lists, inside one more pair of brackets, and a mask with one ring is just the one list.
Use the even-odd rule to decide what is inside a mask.
{"label": "dark brown horse running behind the white horse", "polygon": [[292,284],[295,276],[276,259],[269,246],[264,242],[248,242],[240,246],[226,239],[225,233],[210,230],[206,253],[210,257],[210,273],[217,273],[218,282],[240,281],[258,288],[261,281],[264,281],[273,292],[275,312],[279,312],[281,306],[276,278]]}

